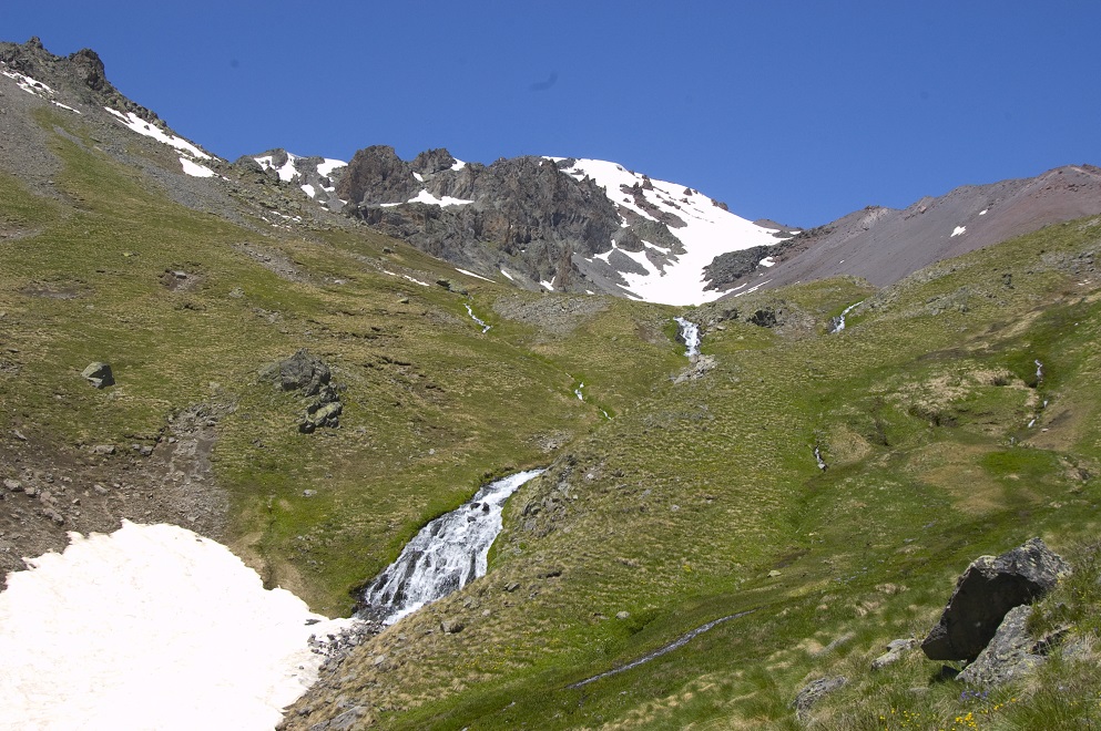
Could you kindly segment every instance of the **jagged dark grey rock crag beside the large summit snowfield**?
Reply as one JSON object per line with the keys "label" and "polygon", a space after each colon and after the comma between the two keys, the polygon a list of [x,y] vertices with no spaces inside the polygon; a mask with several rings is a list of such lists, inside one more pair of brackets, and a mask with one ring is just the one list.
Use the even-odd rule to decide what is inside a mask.
{"label": "jagged dark grey rock crag beside the large summit snowfield", "polygon": [[[622,228],[603,188],[574,179],[552,161],[529,156],[456,167],[446,150],[406,163],[393,147],[367,147],[348,164],[337,194],[349,202],[348,215],[432,256],[482,270],[507,267],[532,285],[553,281],[560,290],[583,291],[578,261],[609,251],[613,238],[629,250],[641,250],[645,238],[683,251],[654,222]],[[421,192],[470,203],[409,203]]]}

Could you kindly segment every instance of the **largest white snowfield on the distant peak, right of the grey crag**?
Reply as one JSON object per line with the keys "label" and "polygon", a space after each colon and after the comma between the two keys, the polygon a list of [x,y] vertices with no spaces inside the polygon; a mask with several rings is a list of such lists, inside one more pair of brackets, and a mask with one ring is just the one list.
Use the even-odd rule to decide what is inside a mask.
{"label": "largest white snowfield on the distant peak, right of the grey crag", "polygon": [[[561,158],[550,157],[558,162]],[[643,176],[631,173],[622,165],[599,159],[580,159],[564,171],[575,179],[591,177],[604,188],[608,197],[621,209],[626,209],[642,218],[656,218],[634,203],[633,198],[622,198],[622,186],[629,188],[643,184]],[[665,181],[650,179],[652,189],[642,189],[645,200],[659,212],[671,214],[685,223],[683,227],[670,227],[670,231],[681,240],[685,254],[671,256],[673,264],[657,269],[649,259],[643,262],[648,274],[624,274],[628,288],[639,294],[640,299],[667,305],[697,305],[723,295],[716,290],[704,290],[703,268],[720,254],[746,249],[752,246],[776,243],[772,229],[757,226],[740,216],[723,210],[712,198],[692,191],[685,193],[683,185]],[[624,222],[625,223],[625,222]],[[622,250],[622,249],[621,249]],[[624,251],[624,254],[629,254]],[[599,258],[606,261],[606,255]],[[643,258],[645,258],[643,256]]]}

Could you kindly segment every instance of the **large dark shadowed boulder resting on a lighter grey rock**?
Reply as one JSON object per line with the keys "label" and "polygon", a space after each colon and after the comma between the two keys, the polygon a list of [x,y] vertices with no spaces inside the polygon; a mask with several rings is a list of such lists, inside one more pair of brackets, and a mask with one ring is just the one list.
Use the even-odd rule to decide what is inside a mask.
{"label": "large dark shadowed boulder resting on a lighter grey rock", "polygon": [[921,642],[930,660],[975,660],[1013,607],[1054,587],[1069,567],[1039,538],[993,556],[980,556],[956,581],[940,621]]}

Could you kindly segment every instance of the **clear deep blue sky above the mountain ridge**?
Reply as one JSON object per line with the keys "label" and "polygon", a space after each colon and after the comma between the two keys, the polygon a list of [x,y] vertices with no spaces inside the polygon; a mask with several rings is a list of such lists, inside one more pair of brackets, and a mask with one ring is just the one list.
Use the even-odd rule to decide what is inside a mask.
{"label": "clear deep blue sky above the mountain ridge", "polygon": [[612,159],[812,226],[1101,164],[1101,2],[6,2],[228,158]]}

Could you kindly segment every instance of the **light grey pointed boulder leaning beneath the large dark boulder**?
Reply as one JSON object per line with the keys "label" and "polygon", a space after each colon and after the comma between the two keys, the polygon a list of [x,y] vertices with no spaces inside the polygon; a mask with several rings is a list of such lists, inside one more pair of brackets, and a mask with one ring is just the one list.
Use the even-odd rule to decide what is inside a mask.
{"label": "light grey pointed boulder leaning beneath the large dark boulder", "polygon": [[1047,659],[1050,648],[1066,630],[1057,630],[1040,640],[1028,631],[1032,607],[1013,607],[998,626],[990,644],[979,652],[975,662],[956,676],[956,680],[973,686],[997,686],[1018,680]]}

